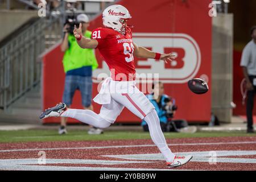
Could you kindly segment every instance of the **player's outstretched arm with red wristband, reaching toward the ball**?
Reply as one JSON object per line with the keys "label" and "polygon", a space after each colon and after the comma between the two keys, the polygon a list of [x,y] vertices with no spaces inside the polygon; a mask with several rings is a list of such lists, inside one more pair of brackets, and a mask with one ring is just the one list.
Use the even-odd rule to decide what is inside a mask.
{"label": "player's outstretched arm with red wristband, reaching toward the ball", "polygon": [[160,53],[160,55],[157,55],[159,53],[150,51],[144,47],[138,46],[135,43],[133,43],[133,45],[134,45],[134,55],[138,58],[151,58],[151,59],[158,58],[160,60],[164,60],[166,63],[167,61],[171,61],[175,59],[175,55],[173,55],[172,53]]}

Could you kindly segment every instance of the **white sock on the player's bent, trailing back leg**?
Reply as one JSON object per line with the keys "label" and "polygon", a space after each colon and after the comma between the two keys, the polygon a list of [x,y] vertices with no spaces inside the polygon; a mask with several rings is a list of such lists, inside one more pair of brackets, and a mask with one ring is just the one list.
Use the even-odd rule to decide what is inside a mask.
{"label": "white sock on the player's bent, trailing back leg", "polygon": [[84,109],[67,109],[61,115],[61,117],[75,118],[83,123],[92,125],[94,127],[106,128],[111,125],[106,119],[100,117],[100,115],[94,113],[91,110]]}

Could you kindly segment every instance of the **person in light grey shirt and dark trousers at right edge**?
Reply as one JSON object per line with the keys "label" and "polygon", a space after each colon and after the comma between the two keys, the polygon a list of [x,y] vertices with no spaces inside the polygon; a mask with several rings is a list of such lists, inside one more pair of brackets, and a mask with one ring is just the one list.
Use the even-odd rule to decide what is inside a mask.
{"label": "person in light grey shirt and dark trousers at right edge", "polygon": [[256,90],[256,26],[251,28],[251,38],[253,38],[243,49],[241,67],[246,80],[247,89],[247,133],[254,133],[253,129],[253,106],[254,94]]}

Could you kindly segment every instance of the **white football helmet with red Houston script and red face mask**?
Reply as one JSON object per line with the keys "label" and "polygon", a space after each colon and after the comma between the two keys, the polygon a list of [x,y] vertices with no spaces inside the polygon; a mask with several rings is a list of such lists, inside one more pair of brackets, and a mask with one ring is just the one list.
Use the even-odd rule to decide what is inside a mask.
{"label": "white football helmet with red Houston script and red face mask", "polygon": [[121,5],[107,7],[102,13],[102,20],[105,27],[113,28],[121,34],[131,33],[133,26],[127,26],[126,22],[131,19],[129,11]]}

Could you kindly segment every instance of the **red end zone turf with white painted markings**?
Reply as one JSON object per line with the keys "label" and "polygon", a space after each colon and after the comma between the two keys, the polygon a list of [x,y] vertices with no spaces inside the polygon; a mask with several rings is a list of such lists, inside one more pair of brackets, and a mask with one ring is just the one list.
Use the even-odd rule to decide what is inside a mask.
{"label": "red end zone turf with white painted markings", "polygon": [[[167,143],[175,153],[194,156],[178,170],[256,170],[255,137],[174,138]],[[0,170],[170,170],[151,139],[5,142],[0,148]]]}

